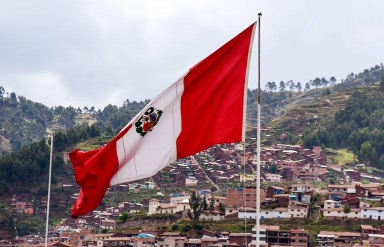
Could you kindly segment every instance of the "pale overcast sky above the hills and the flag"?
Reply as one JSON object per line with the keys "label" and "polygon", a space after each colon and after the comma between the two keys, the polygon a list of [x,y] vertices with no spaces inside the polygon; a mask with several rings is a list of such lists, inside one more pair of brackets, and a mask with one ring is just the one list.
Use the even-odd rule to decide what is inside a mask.
{"label": "pale overcast sky above the hills and the flag", "polygon": [[379,0],[4,0],[0,85],[47,106],[150,99],[258,12],[262,85],[340,80],[384,62]]}

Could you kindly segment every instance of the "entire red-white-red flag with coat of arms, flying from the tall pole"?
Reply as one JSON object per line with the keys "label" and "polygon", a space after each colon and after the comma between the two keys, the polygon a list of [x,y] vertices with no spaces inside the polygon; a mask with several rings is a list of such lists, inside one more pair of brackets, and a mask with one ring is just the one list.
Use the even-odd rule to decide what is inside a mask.
{"label": "entire red-white-red flag with coat of arms, flying from the tall pole", "polygon": [[255,26],[190,68],[105,146],[69,153],[81,186],[73,218],[94,210],[110,185],[148,178],[213,144],[243,140]]}

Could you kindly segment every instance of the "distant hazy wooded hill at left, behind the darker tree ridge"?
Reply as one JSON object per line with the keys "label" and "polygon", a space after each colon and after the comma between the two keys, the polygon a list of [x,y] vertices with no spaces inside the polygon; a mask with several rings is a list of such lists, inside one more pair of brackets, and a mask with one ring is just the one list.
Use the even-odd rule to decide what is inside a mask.
{"label": "distant hazy wooded hill at left, behind the darker tree ridge", "polygon": [[148,100],[126,100],[120,107],[108,105],[98,111],[94,107],[48,108],[14,92],[5,92],[0,86],[0,156],[39,141],[50,132],[62,132],[83,124],[96,124],[103,133],[113,135],[147,103]]}

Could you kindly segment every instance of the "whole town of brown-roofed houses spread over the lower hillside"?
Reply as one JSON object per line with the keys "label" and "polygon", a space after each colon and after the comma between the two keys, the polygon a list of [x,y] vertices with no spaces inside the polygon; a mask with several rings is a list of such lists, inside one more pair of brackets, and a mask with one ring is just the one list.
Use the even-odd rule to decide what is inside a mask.
{"label": "whole town of brown-roofed houses spread over the lower hillside", "polygon": [[[252,232],[200,232],[199,238],[187,238],[183,229],[172,232],[159,230],[173,226],[180,220],[190,221],[191,193],[205,200],[199,221],[222,222],[256,219],[255,145],[215,145],[188,159],[178,160],[150,180],[117,186],[118,193],[151,191],[153,197],[140,202],[121,201],[78,219],[62,219],[49,229],[49,245],[55,247],[254,247]],[[262,147],[262,188],[260,191],[260,244],[262,246],[383,246],[384,227],[374,221],[384,219],[384,184],[371,168],[357,164],[354,168],[335,165],[320,147],[312,150],[301,145],[275,144]],[[332,182],[332,183],[330,183]],[[208,185],[208,186],[207,186]],[[75,184],[62,184],[76,187]],[[201,188],[208,189],[201,189]],[[184,188],[184,190],[179,190]],[[174,190],[165,195],[164,191]],[[116,189],[115,189],[116,191]],[[113,194],[113,189],[107,193]],[[57,202],[63,210],[78,194],[67,201]],[[9,208],[16,213],[45,212],[46,200],[39,205],[9,200]],[[192,212],[193,213],[193,212]],[[125,215],[124,222],[121,216]],[[134,217],[134,216],[142,216]],[[355,232],[318,231],[314,245],[305,228],[281,228],[263,225],[267,219],[312,219],[318,221],[370,220],[372,225],[360,224]],[[190,223],[192,224],[192,222]],[[121,231],[119,226],[136,227],[137,231]],[[185,228],[185,226],[184,226]],[[184,229],[185,230],[185,229]],[[33,246],[44,241],[41,236],[20,236],[2,240],[0,247]]]}

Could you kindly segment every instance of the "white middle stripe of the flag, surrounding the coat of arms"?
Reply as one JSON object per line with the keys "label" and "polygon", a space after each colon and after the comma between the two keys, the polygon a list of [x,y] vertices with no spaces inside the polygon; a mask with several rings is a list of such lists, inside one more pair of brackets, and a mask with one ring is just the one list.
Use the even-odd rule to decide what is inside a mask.
{"label": "white middle stripe of the flag, surrounding the coat of arms", "polygon": [[[131,129],[116,142],[119,168],[110,180],[110,185],[150,177],[176,160],[176,139],[181,132],[180,101],[184,76],[149,102],[132,119]],[[141,137],[134,124],[149,107],[161,110],[162,115],[152,131]]]}

